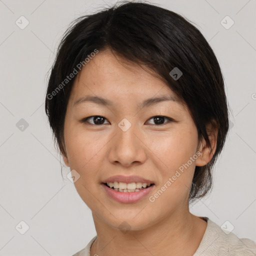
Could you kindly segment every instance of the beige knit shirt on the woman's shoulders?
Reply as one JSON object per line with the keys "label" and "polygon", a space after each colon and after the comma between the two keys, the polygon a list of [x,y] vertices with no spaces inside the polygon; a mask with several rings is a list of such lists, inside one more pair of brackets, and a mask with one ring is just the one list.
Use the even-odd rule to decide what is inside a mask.
{"label": "beige knit shirt on the woman's shoulders", "polygon": [[[202,240],[193,256],[256,256],[256,243],[248,238],[238,238],[234,233],[225,233],[220,226],[203,217],[207,221]],[[93,256],[89,254],[90,246],[96,239],[94,236],[85,248],[73,256]]]}

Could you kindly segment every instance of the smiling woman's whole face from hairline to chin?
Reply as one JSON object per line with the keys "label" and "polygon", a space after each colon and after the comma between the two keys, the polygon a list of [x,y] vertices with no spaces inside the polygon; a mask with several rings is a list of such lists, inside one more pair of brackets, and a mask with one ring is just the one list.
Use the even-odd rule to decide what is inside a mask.
{"label": "smiling woman's whole face from hairline to chin", "polygon": [[[109,102],[85,100],[87,96]],[[205,159],[196,154],[197,129],[184,105],[176,100],[142,105],[161,96],[175,98],[163,81],[110,50],[99,51],[74,82],[63,159],[80,175],[74,185],[82,200],[109,226],[126,221],[139,230],[188,211],[194,168]],[[153,185],[144,191],[115,191],[102,183],[114,175],[124,176],[122,181],[137,176],[123,183],[143,178]]]}

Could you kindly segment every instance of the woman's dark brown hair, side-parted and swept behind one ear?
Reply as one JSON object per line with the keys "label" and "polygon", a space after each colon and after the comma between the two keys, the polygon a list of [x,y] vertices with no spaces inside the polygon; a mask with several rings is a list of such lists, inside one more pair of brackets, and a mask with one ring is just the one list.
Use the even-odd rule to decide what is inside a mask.
{"label": "woman's dark brown hair, side-parted and swept behind one ear", "polygon": [[[106,48],[157,73],[187,105],[200,140],[204,138],[210,145],[206,124],[211,123],[217,129],[215,153],[206,165],[195,167],[189,200],[204,196],[211,188],[211,171],[228,131],[223,77],[215,54],[201,32],[179,14],[153,4],[118,3],[79,17],[66,30],[45,96],[45,111],[60,152],[65,155],[64,118],[77,74],[69,77],[68,82],[65,79],[77,73],[74,70],[78,71],[79,63],[84,63],[91,52]],[[176,80],[169,74],[174,67],[182,72]]]}

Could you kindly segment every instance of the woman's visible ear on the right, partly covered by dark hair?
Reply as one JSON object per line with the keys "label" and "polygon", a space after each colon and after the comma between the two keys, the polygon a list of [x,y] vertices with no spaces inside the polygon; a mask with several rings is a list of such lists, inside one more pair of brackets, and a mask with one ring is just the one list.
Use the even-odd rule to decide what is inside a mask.
{"label": "woman's visible ear on the right, partly covered by dark hair", "polygon": [[[213,154],[216,150],[216,143],[217,143],[217,125],[213,125],[211,123],[206,125],[206,130],[208,134],[208,138],[210,141],[210,146],[206,145],[205,139],[202,138],[198,146],[198,151],[201,154],[195,160],[196,166],[203,166],[206,165],[212,158]],[[211,147],[211,148],[210,148]]]}

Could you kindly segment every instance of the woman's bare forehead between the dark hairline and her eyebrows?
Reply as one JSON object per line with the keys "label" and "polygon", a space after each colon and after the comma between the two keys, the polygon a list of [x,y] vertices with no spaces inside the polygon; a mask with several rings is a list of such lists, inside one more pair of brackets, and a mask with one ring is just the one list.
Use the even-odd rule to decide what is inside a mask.
{"label": "woman's bare forehead between the dark hairline and her eyebrows", "polygon": [[88,95],[123,102],[140,102],[143,99],[162,96],[173,99],[173,102],[179,101],[152,70],[113,54],[109,49],[99,51],[90,59],[74,81],[70,95],[72,103],[75,104]]}

